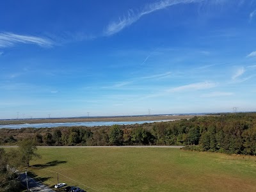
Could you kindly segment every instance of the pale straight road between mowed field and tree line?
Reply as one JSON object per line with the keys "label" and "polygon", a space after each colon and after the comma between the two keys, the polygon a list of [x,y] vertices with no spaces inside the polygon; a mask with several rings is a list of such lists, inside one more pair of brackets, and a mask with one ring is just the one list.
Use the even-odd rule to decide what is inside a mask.
{"label": "pale straight road between mowed field and tree line", "polygon": [[[0,145],[0,148],[17,148],[17,145]],[[127,145],[127,146],[38,146],[38,148],[182,148],[177,145]]]}

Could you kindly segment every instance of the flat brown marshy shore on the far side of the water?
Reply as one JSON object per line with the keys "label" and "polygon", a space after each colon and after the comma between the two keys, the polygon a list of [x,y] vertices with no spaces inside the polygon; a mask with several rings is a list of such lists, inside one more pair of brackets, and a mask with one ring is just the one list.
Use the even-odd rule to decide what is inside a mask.
{"label": "flat brown marshy shore on the far side of the water", "polygon": [[190,119],[193,116],[204,115],[157,115],[157,116],[111,116],[111,117],[88,117],[88,118],[44,118],[31,120],[0,120],[0,125],[17,124],[47,124],[47,123],[71,123],[71,122],[140,122],[156,120],[181,120]]}

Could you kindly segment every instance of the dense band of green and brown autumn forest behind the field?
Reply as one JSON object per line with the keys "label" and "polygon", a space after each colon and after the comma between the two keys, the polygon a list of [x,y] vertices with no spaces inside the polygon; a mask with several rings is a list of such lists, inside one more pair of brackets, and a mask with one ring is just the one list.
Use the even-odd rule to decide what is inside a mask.
{"label": "dense band of green and brown autumn forest behind the field", "polygon": [[33,138],[36,145],[186,145],[184,149],[256,155],[256,113],[101,127],[1,129],[0,144]]}

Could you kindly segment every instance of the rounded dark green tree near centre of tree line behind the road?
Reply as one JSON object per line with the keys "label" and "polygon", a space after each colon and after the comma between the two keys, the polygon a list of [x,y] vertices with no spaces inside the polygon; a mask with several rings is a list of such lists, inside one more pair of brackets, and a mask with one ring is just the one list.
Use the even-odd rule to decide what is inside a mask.
{"label": "rounded dark green tree near centre of tree line behind the road", "polygon": [[124,141],[124,131],[120,129],[119,125],[112,125],[108,138],[109,138],[109,144],[110,145],[122,145]]}

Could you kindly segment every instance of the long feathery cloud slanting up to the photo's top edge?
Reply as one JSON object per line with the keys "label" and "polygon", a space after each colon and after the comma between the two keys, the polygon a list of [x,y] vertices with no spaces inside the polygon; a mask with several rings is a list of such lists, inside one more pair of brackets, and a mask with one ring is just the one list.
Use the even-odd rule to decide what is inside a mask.
{"label": "long feathery cloud slanting up to the photo's top edge", "polygon": [[204,0],[162,0],[157,1],[156,3],[147,4],[140,12],[134,12],[134,10],[129,10],[127,15],[124,15],[123,18],[119,18],[116,22],[111,22],[108,26],[104,34],[106,36],[113,35],[118,33],[122,29],[130,26],[137,20],[139,20],[144,15],[148,15],[149,13],[156,12],[157,10],[163,10],[164,8],[168,8],[169,6],[173,6],[175,4],[191,4],[191,3],[200,3]]}

